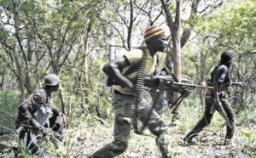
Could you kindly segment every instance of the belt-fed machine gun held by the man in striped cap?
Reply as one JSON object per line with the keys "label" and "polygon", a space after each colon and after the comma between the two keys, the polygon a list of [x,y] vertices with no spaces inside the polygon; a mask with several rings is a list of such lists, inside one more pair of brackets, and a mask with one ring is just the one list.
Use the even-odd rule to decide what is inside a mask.
{"label": "belt-fed machine gun held by the man in striped cap", "polygon": [[[155,105],[158,104],[160,101],[160,95],[162,95],[164,91],[181,93],[180,97],[175,101],[175,103],[172,104],[172,106],[174,104],[177,104],[177,106],[174,108],[174,110],[176,110],[178,105],[182,102],[183,98],[188,96],[191,89],[195,89],[195,87],[206,88],[206,86],[185,84],[185,83],[174,82],[174,81],[176,80],[171,76],[144,76],[141,70],[139,72],[138,77],[131,81],[132,83],[137,85],[136,92],[135,92],[135,102],[136,102],[135,110],[134,110],[135,112],[134,112],[133,121],[132,121],[132,125],[134,127],[135,133],[142,134],[143,130],[149,126],[148,120],[152,114],[152,111],[154,110]],[[114,79],[112,79],[111,77],[108,77],[107,86],[110,87],[112,85],[119,85],[122,87],[122,85],[120,85],[118,82],[115,82]],[[140,96],[143,92],[143,89],[145,89],[145,87],[155,89],[157,90],[157,93],[152,102],[153,104],[150,106],[148,110],[148,114],[146,118],[143,120],[143,126],[138,128],[137,127],[138,125],[137,117],[139,116],[138,104],[141,99]],[[172,107],[170,107],[170,109],[171,108]]]}

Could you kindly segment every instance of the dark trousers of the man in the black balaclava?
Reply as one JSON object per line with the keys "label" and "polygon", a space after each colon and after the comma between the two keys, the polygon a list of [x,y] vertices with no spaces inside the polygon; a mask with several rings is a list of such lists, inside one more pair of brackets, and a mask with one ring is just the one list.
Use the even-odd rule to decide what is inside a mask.
{"label": "dark trousers of the man in the black balaclava", "polygon": [[[216,110],[210,112],[212,104],[214,103],[213,99],[212,99],[212,96],[211,96],[211,93],[206,94],[205,101],[206,101],[206,109],[205,109],[204,116],[195,125],[195,127],[191,130],[191,132],[186,135],[185,139],[187,139],[187,140],[191,140],[192,138],[195,138],[198,135],[198,133],[200,133],[201,130],[204,127],[207,127],[207,125],[209,125],[212,121],[212,116],[213,116],[213,114]],[[224,107],[224,110],[227,113],[227,117],[229,118],[230,125],[231,125],[231,127],[227,127],[227,133],[226,133],[225,138],[226,139],[231,139],[231,138],[233,138],[234,133],[235,133],[236,114],[232,110],[228,100],[225,97],[220,97],[219,101],[222,103],[222,105]]]}

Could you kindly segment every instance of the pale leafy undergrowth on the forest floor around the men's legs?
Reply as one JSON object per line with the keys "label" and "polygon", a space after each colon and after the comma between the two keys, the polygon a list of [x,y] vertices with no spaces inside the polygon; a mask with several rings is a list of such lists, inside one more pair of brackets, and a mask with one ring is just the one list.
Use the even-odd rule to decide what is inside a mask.
{"label": "pale leafy undergrowth on the forest floor around the men's legs", "polygon": [[[97,100],[90,102],[90,107],[95,108]],[[15,103],[14,103],[15,104]],[[113,141],[113,110],[111,107],[111,98],[102,96],[100,100],[102,117],[96,115],[96,110],[81,110],[79,103],[73,104],[73,117],[71,128],[65,130],[64,143],[58,148],[55,145],[46,141],[38,157],[86,157],[94,151],[100,149],[105,144]],[[15,104],[16,106],[16,104]],[[183,99],[183,116],[181,116],[180,124],[172,127],[172,110],[166,110],[161,118],[166,121],[170,129],[168,135],[170,144],[172,145],[173,155],[183,157],[185,153],[194,150],[194,154],[203,153],[207,148],[214,148],[214,144],[224,138],[225,127],[222,116],[215,112],[212,123],[204,128],[197,137],[201,140],[208,140],[209,143],[201,143],[200,141],[195,146],[183,147],[181,142],[185,134],[195,127],[195,124],[201,119],[204,114],[205,104],[194,98]],[[253,157],[256,155],[256,138],[255,125],[253,125],[253,115],[255,111],[241,111],[236,116],[237,123],[241,123],[244,127],[250,127],[251,130],[242,130],[237,127],[236,136],[234,138],[237,146],[232,146],[234,150],[242,150],[243,153]],[[217,139],[216,139],[217,138]],[[241,149],[241,146],[243,148]],[[24,155],[30,155],[24,153]],[[138,136],[131,132],[129,148],[120,157],[160,157],[160,151],[155,145],[155,137],[148,130],[144,135]],[[193,157],[193,156],[192,156]],[[254,156],[255,158],[255,156]]]}

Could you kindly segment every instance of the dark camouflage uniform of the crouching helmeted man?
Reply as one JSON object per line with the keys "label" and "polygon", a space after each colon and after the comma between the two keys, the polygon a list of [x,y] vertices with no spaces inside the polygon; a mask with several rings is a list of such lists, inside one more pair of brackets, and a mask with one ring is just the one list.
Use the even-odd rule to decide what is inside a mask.
{"label": "dark camouflage uniform of the crouching helmeted man", "polygon": [[[42,122],[42,120],[37,120],[36,114],[40,113],[40,110],[44,107],[44,115],[49,118],[49,123]],[[19,113],[18,118],[15,121],[16,128],[20,127],[20,124],[26,124],[32,126],[32,119],[36,120],[45,127],[50,127],[53,131],[63,134],[63,121],[59,116],[59,110],[55,109],[52,105],[52,100],[50,96],[46,95],[44,89],[39,89],[35,93],[32,93],[28,99],[21,103],[18,107]],[[47,118],[45,120],[47,120]],[[24,129],[20,132],[20,139],[25,141],[28,146],[32,140],[32,144],[29,149],[32,150],[32,154],[38,152],[40,145],[38,141],[38,132],[34,129]],[[37,137],[37,138],[36,138]]]}

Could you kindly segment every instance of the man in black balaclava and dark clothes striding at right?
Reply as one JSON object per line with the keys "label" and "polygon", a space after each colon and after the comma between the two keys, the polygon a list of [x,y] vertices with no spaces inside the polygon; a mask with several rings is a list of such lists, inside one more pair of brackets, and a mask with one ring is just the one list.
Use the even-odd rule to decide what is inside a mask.
{"label": "man in black balaclava and dark clothes striding at right", "polygon": [[207,125],[211,123],[212,116],[215,110],[219,109],[218,107],[220,107],[220,105],[223,106],[228,120],[230,121],[230,126],[227,126],[225,142],[229,142],[230,139],[233,138],[235,133],[236,114],[227,100],[228,86],[230,86],[230,78],[228,74],[232,59],[233,55],[228,51],[221,54],[219,65],[211,73],[211,82],[207,83],[207,85],[212,86],[213,89],[206,93],[204,116],[201,118],[201,121],[195,125],[192,131],[185,136],[185,142],[191,142],[192,138],[195,138],[204,127],[207,127]]}

